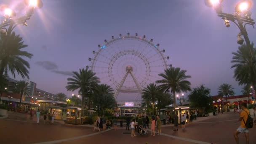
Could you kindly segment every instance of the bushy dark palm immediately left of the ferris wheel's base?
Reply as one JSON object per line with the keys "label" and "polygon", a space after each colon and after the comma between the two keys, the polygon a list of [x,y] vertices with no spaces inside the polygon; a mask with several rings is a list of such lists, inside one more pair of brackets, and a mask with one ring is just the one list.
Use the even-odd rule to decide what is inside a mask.
{"label": "bushy dark palm immediately left of the ferris wheel's base", "polygon": [[104,114],[104,109],[115,107],[114,90],[109,85],[100,84],[97,86],[94,93],[94,104],[97,105],[98,109]]}

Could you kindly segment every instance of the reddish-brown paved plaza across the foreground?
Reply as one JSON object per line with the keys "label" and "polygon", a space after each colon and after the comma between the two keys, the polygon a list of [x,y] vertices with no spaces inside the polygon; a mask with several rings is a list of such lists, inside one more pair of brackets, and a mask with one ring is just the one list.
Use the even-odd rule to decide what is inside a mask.
{"label": "reddish-brown paved plaza across the foreground", "polygon": [[[35,123],[29,115],[9,112],[0,119],[0,144],[234,144],[233,132],[240,125],[238,115],[232,112],[212,117],[199,117],[186,130],[173,131],[173,125],[163,125],[162,135],[131,137],[130,131],[119,127],[118,131],[92,132],[93,125],[70,125],[62,121],[54,124]],[[256,143],[256,128],[250,129],[250,144]],[[240,134],[240,142],[245,138]]]}

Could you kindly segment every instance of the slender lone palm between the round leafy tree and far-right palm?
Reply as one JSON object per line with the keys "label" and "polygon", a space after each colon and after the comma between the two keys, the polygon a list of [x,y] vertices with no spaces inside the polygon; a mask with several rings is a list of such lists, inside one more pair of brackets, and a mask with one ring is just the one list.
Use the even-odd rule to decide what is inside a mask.
{"label": "slender lone palm between the round leafy tree and far-right palm", "polygon": [[[220,96],[226,96],[226,102],[227,102],[227,97],[235,95],[234,88],[232,88],[232,85],[229,85],[227,83],[220,85],[218,90],[219,90],[218,94]],[[229,108],[227,107],[227,109]]]}

